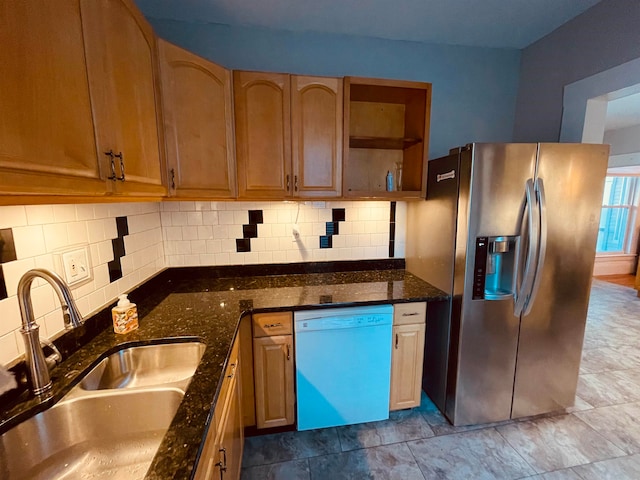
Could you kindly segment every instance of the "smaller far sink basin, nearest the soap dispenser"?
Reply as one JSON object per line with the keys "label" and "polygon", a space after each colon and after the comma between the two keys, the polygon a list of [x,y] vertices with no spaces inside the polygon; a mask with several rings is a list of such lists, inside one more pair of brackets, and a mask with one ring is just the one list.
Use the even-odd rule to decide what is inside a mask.
{"label": "smaller far sink basin, nearest the soap dispenser", "polygon": [[96,365],[80,382],[83,390],[171,385],[186,390],[205,350],[200,342],[129,347]]}

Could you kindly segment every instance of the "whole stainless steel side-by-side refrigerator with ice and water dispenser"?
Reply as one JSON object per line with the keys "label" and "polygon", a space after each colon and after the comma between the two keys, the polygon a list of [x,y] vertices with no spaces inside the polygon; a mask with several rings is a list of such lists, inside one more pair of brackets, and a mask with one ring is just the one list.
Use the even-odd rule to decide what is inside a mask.
{"label": "whole stainless steel side-by-side refrigerator with ice and water dispenser", "polygon": [[429,162],[406,262],[451,295],[427,320],[423,385],[454,425],[573,405],[608,154],[471,144]]}

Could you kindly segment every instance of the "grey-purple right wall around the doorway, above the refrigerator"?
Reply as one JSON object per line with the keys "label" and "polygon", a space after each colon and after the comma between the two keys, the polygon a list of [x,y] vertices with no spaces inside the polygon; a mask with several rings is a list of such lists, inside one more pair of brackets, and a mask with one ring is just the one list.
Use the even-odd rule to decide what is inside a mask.
{"label": "grey-purple right wall around the doorway, above the refrigerator", "polygon": [[637,58],[638,0],[603,0],[528,46],[522,52],[514,140],[558,141],[564,87]]}

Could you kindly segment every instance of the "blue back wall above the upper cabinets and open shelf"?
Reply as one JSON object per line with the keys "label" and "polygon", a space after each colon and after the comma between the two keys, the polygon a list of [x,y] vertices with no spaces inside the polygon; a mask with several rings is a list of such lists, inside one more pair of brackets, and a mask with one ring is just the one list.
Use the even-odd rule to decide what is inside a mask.
{"label": "blue back wall above the upper cabinets and open shelf", "polygon": [[429,156],[512,140],[520,51],[149,18],[166,40],[227,68],[433,84]]}

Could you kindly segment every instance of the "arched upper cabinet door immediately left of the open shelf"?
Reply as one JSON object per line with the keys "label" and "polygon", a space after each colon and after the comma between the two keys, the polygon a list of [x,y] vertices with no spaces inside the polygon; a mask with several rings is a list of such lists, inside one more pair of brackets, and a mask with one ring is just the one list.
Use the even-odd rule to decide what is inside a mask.
{"label": "arched upper cabinet door immediately left of the open shelf", "polygon": [[293,194],[342,193],[342,79],[291,77]]}

